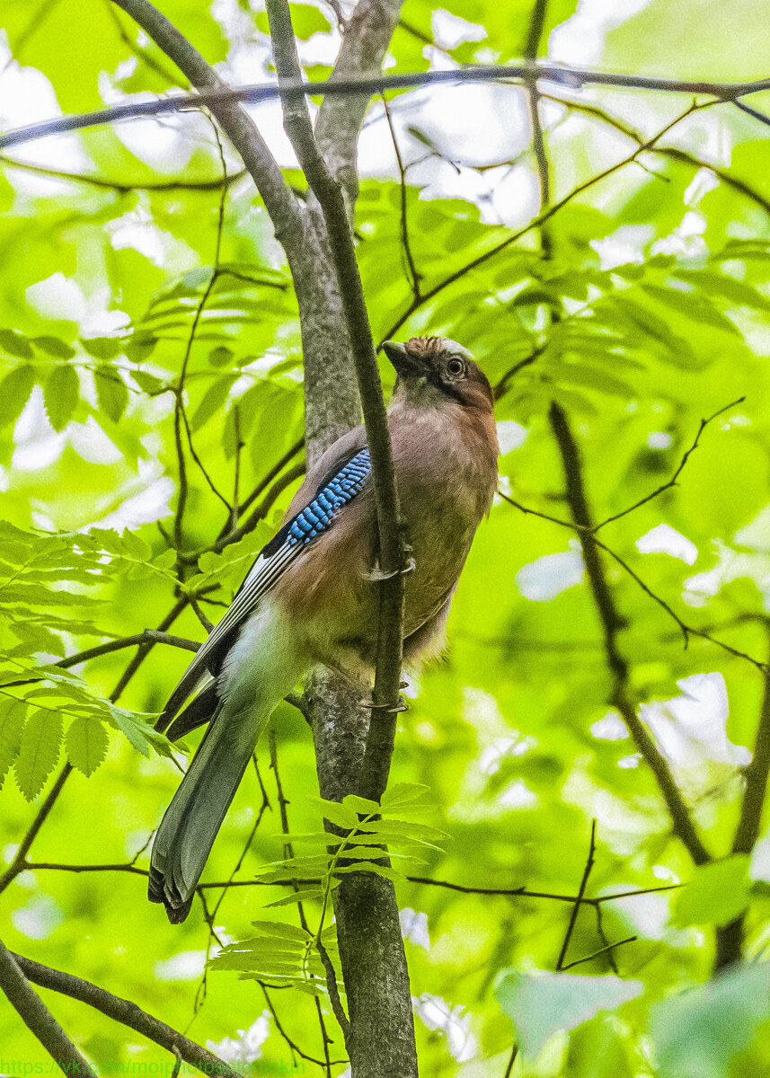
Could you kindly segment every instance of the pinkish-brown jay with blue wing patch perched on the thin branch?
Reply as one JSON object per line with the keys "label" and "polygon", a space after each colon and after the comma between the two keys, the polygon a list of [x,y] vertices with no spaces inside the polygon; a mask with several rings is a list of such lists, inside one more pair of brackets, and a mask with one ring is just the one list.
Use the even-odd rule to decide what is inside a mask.
{"label": "pinkish-brown jay with blue wing patch perched on the thin branch", "polygon": [[[387,425],[413,558],[404,579],[403,659],[414,666],[443,650],[457,580],[492,507],[499,450],[492,388],[465,347],[415,336],[382,349],[396,371]],[[149,898],[164,903],[173,924],[190,912],[279,701],[317,663],[368,683],[377,647],[376,537],[371,462],[358,427],[308,470],[279,531],[157,720],[170,741],[208,723],[152,847]]]}

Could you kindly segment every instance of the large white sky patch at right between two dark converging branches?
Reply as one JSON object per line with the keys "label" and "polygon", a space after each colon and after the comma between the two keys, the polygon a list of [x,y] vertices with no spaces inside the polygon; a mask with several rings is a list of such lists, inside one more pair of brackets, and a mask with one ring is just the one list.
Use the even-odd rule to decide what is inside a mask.
{"label": "large white sky patch at right between two dark converging branches", "polygon": [[686,770],[709,763],[745,766],[752,754],[727,736],[729,705],[721,674],[693,674],[676,685],[680,696],[640,707],[640,718],[652,731],[663,755]]}

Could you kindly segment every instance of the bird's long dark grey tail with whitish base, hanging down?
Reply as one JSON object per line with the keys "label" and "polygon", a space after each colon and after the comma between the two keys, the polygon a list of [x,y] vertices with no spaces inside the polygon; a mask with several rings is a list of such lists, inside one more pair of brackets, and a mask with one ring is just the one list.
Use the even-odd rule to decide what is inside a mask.
{"label": "bird's long dark grey tail with whitish base, hanging down", "polygon": [[[214,840],[262,729],[303,673],[303,663],[290,647],[280,647],[273,633],[260,632],[277,627],[274,619],[269,624],[266,620],[252,619],[233,648],[235,654],[228,657],[220,679],[222,701],[155,835],[149,898],[164,903],[171,924],[184,921],[190,912]],[[287,642],[284,635],[283,644]]]}

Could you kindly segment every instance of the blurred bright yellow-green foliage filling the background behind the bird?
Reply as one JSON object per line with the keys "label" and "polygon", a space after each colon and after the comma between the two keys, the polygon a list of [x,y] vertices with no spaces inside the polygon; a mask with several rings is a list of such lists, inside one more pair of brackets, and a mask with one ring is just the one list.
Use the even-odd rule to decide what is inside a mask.
{"label": "blurred bright yellow-green foliage filling the background behind the bird", "polygon": [[[247,45],[263,56],[263,15],[247,3],[225,15],[225,6],[216,5],[215,17],[208,4],[176,0],[164,12],[210,63]],[[331,32],[330,11],[292,6],[307,43],[306,72],[318,77],[329,70],[330,45],[326,53],[310,46]],[[478,26],[441,55],[459,63],[520,56],[531,8],[531,0],[449,4],[451,15]],[[569,0],[548,5],[541,55],[554,28],[573,26],[573,40],[579,37],[576,20],[588,16],[575,11]],[[85,111],[115,91],[156,93],[178,82],[170,63],[108,3],[6,0],[3,16],[15,57],[8,70],[20,65],[45,87],[46,114],[54,102]],[[618,12],[611,26],[600,19],[593,60],[670,78],[765,74],[761,38],[733,32],[739,23],[766,28],[764,5],[656,0],[635,14]],[[399,70],[426,69],[426,40],[440,30],[430,5],[408,0],[391,46]],[[756,662],[768,650],[767,128],[729,102],[685,116],[685,94],[544,88],[563,102],[541,106],[552,203],[564,205],[541,227],[526,229],[536,205],[520,219],[519,195],[505,194],[511,176],[523,183],[519,193],[536,184],[528,132],[510,161],[464,164],[472,148],[453,140],[451,110],[439,127],[435,118],[424,123],[403,94],[391,109],[398,116],[404,108],[398,129],[410,162],[427,156],[442,175],[467,182],[426,191],[427,172],[410,164],[405,191],[395,174],[366,178],[357,205],[375,336],[426,331],[473,351],[498,387],[503,489],[535,511],[500,499],[481,527],[454,602],[448,657],[415,677],[398,734],[393,780],[428,787],[429,823],[446,835],[422,846],[422,862],[410,862],[407,874],[459,887],[405,875],[397,883],[421,1066],[429,1075],[501,1076],[515,1039],[510,1073],[533,1078],[761,1074],[770,1067],[770,862],[761,821],[753,854],[730,854],[741,769],[761,708]],[[762,95],[752,102],[767,109]],[[684,119],[659,143],[630,160],[640,140],[676,116]],[[317,835],[320,827],[301,715],[288,705],[276,711],[275,758],[271,764],[261,747],[204,877],[247,884],[259,873],[259,885],[207,889],[206,908],[196,903],[171,927],[147,902],[137,870],[178,780],[151,720],[188,657],[155,645],[109,703],[136,648],[74,671],[60,665],[162,625],[201,639],[193,607],[180,607],[180,597],[216,621],[274,534],[299,481],[291,465],[301,459],[288,456],[302,436],[290,276],[250,182],[226,147],[220,156],[205,120],[101,127],[57,144],[66,147],[61,162],[8,153],[0,180],[8,865],[60,768],[74,771],[28,855],[40,867],[15,875],[0,897],[0,935],[32,958],[189,1026],[223,1055],[236,1058],[238,1031],[267,1012],[262,1060],[291,1058],[284,1034],[318,1060],[315,1000],[287,987],[291,978],[281,991],[239,982],[232,970],[243,967],[229,959],[243,951],[238,941],[281,938],[304,948],[307,939],[293,900],[281,902],[287,890],[275,868],[284,855],[278,776],[290,830]],[[576,534],[547,519],[569,517],[548,423],[554,401],[569,417],[596,522],[666,487],[607,523],[600,538],[622,559],[602,555],[622,619],[616,644],[629,666],[629,697],[647,706],[642,717],[715,858],[697,869],[609,707],[607,641]],[[180,443],[187,506],[175,527]],[[281,460],[283,485],[260,489]],[[229,507],[243,507],[252,492],[259,520],[234,531]],[[642,553],[637,540],[660,525],[689,541],[687,559],[666,553],[671,530],[668,545]],[[685,639],[672,611],[706,635]],[[720,692],[727,706],[714,703]],[[602,901],[581,907],[560,965],[573,909],[566,899],[583,876],[592,819],[586,896]],[[608,900],[640,890],[649,893]],[[302,897],[312,935],[324,894],[311,888]],[[743,915],[751,962],[709,981],[715,929]],[[262,926],[258,937],[253,922]],[[45,998],[97,1063],[169,1063],[82,1004]],[[326,997],[321,1006],[332,1059],[341,1059]],[[9,1007],[0,1012],[0,1044],[3,1058],[47,1062]],[[307,1073],[322,1073],[305,1062]]]}

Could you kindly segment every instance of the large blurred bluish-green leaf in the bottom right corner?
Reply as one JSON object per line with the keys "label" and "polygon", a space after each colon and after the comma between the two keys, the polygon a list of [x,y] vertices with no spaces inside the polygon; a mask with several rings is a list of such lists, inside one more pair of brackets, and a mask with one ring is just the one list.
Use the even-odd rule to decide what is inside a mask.
{"label": "large blurred bluish-green leaf in the bottom right corner", "polygon": [[768,1020],[770,964],[739,967],[652,1007],[661,1078],[728,1078],[733,1059]]}

